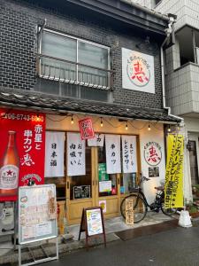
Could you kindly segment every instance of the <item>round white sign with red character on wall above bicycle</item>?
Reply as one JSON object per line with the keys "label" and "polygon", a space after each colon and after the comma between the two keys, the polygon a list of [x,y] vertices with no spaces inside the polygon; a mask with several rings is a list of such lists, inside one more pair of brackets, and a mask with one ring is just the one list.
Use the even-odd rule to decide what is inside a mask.
{"label": "round white sign with red character on wall above bicycle", "polygon": [[162,148],[155,141],[149,141],[144,145],[144,159],[151,166],[156,166],[162,160]]}

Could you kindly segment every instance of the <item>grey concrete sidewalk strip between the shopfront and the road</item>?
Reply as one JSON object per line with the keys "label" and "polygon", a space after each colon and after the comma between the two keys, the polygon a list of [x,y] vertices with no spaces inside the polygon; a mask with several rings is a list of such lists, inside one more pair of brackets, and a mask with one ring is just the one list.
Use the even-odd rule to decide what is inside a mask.
{"label": "grey concrete sidewalk strip between the shopfront and the road", "polygon": [[[177,219],[179,219],[179,215],[176,216]],[[122,217],[116,217],[109,220],[105,220],[105,232],[106,232],[106,240],[107,243],[119,240],[119,237],[115,234],[115,232],[118,231],[125,231],[132,228],[139,228],[142,226],[157,224],[157,223],[164,223],[165,221],[172,220],[171,217],[166,216],[162,213],[155,213],[155,212],[148,212],[147,216],[141,223],[135,223],[134,226],[127,226]],[[63,239],[61,236],[58,237],[58,250],[59,254],[65,254],[70,253],[73,250],[77,250],[80,248],[85,247],[85,234],[81,233],[81,239],[78,241],[78,235],[80,231],[80,225],[73,225],[68,227],[68,231],[70,234],[73,235],[73,239],[71,240],[65,240],[63,242]],[[103,243],[103,239],[97,238],[92,239],[89,241],[90,246],[97,246]],[[53,255],[56,252],[55,249],[55,240],[49,240],[49,241],[40,241],[37,243],[34,243],[33,250],[34,250],[34,256],[36,258],[42,258],[43,252],[39,245],[44,247],[45,252],[48,255]],[[27,262],[31,260],[31,255],[29,254],[27,249],[24,249],[22,251],[22,261]],[[8,264],[7,264],[8,263]],[[0,264],[1,265],[14,265],[18,263],[18,249],[14,250],[13,246],[11,244],[11,238],[10,241],[4,241],[0,244]]]}

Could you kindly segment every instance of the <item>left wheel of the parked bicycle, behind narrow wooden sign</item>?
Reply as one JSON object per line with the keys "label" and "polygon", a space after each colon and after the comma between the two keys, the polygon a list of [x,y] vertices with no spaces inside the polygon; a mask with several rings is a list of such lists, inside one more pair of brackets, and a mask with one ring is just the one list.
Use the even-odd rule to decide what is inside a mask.
{"label": "left wheel of the parked bicycle, behind narrow wooden sign", "polygon": [[126,219],[126,199],[133,198],[134,200],[134,223],[139,223],[147,214],[147,206],[142,198],[136,194],[131,194],[122,200],[120,205],[121,215]]}

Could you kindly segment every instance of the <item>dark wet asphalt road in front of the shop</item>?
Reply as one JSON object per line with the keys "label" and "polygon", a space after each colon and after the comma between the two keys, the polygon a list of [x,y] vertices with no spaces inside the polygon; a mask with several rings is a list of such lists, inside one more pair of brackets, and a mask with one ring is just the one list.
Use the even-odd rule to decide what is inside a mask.
{"label": "dark wet asphalt road in front of the shop", "polygon": [[199,227],[177,227],[153,235],[111,242],[71,254],[43,266],[196,266],[199,265]]}

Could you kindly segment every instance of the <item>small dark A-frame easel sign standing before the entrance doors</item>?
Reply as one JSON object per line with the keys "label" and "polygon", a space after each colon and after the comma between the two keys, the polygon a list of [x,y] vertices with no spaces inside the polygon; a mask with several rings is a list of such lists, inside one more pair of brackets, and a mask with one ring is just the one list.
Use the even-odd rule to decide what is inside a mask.
{"label": "small dark A-frame easel sign standing before the entrance doors", "polygon": [[[96,238],[103,235],[104,246],[106,246],[106,236],[103,221],[102,207],[88,207],[84,208],[81,215],[80,233],[85,231],[86,246],[88,248],[88,239]],[[80,240],[79,233],[79,240]]]}

